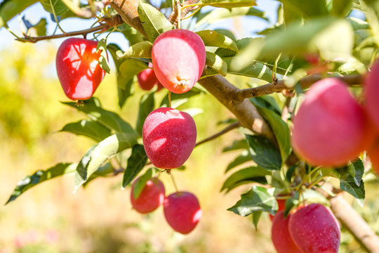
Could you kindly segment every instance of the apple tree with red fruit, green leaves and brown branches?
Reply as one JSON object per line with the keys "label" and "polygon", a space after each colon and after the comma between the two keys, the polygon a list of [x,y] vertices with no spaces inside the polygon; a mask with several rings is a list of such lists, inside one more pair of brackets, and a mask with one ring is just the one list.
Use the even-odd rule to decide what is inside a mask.
{"label": "apple tree with red fruit, green leaves and brown branches", "polygon": [[[18,36],[7,22],[36,2],[57,29],[46,34],[46,20],[32,25],[23,19],[27,31]],[[121,188],[132,188],[137,212],[163,205],[175,231],[196,233],[197,196],[190,189],[168,195],[159,174],[175,176],[198,145],[242,129],[244,135],[222,150],[240,153],[220,185],[226,193],[242,185],[251,190],[228,211],[250,216],[255,226],[270,214],[278,252],[338,252],[341,226],[363,249],[378,252],[378,235],[342,195],[363,206],[364,179],[379,173],[379,1],[279,0],[277,22],[255,37],[207,29],[225,18],[265,19],[262,2],[1,1],[0,27],[15,36],[14,43],[66,38],[56,56],[58,79],[71,100],[64,104],[86,118],[62,130],[96,142],[77,163],[26,176],[7,204],[65,174],[74,173],[74,191],[122,174]],[[93,25],[64,31],[59,23],[69,18],[92,19]],[[107,41],[112,33],[123,34],[128,45]],[[145,91],[134,105],[135,125],[95,97],[111,59],[120,108],[135,96],[136,84]],[[234,83],[236,75],[244,83]],[[233,115],[225,115],[225,129],[204,140],[197,140],[193,112],[177,110],[199,95],[213,96]],[[237,169],[251,161],[253,166]]]}

